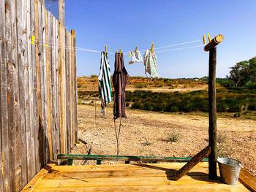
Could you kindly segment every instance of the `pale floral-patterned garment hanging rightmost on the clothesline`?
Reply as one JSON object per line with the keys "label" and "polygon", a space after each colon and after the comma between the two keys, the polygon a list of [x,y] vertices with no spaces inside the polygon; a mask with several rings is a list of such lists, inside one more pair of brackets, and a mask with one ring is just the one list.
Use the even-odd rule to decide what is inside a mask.
{"label": "pale floral-patterned garment hanging rightmost on the clothesline", "polygon": [[151,50],[146,50],[144,54],[144,66],[145,66],[145,74],[148,72],[151,78],[159,77],[157,72],[157,55],[151,53]]}

